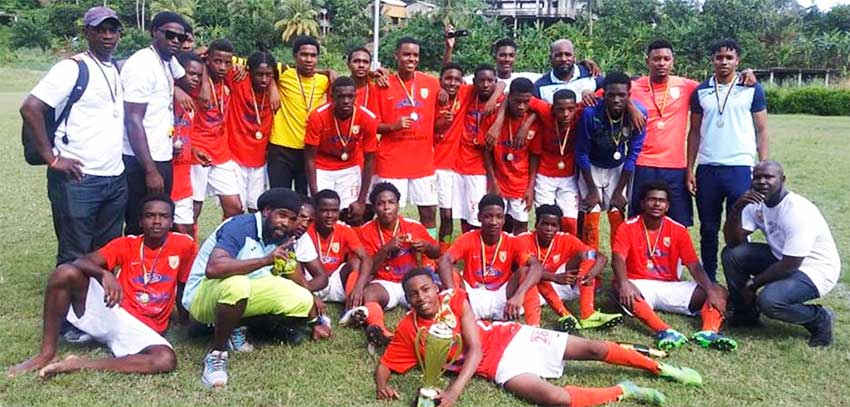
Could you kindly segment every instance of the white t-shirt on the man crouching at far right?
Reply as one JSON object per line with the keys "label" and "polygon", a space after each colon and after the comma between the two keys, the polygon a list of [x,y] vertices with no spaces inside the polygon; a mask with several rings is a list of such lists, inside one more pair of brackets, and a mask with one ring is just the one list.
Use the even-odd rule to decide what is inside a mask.
{"label": "white t-shirt on the man crouching at far right", "polygon": [[841,272],[838,249],[826,220],[808,199],[789,192],[773,208],[763,203],[747,205],[741,226],[750,232],[761,229],[777,259],[783,255],[804,257],[800,271],[812,280],[821,297],[835,286]]}

